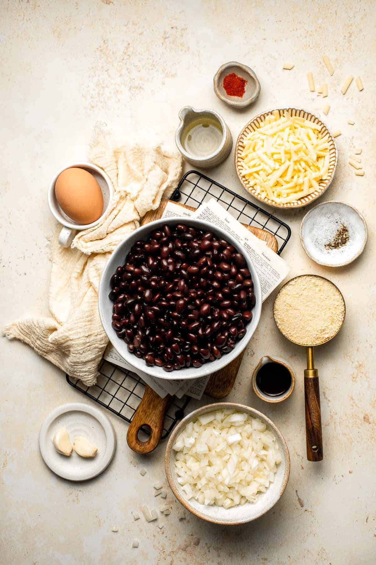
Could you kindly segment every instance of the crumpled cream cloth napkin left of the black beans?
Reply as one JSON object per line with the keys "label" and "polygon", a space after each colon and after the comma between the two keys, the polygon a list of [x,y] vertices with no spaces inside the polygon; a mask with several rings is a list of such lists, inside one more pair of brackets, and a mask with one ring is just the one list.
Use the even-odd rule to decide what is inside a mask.
{"label": "crumpled cream cloth napkin left of the black beans", "polygon": [[[108,344],[98,313],[98,286],[105,263],[125,236],[139,227],[162,195],[169,197],[182,171],[180,154],[160,145],[113,149],[103,130],[91,146],[90,160],[103,168],[114,186],[107,214],[94,228],[78,232],[72,247],[51,245],[50,318],[28,318],[5,328],[4,335],[33,347],[73,379],[95,384]],[[60,230],[60,228],[59,228]]]}

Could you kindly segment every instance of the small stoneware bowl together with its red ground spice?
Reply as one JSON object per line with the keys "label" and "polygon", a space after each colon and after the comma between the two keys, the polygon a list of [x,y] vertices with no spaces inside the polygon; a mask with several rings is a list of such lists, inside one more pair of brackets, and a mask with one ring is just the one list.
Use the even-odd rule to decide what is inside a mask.
{"label": "small stoneware bowl together with its red ground spice", "polygon": [[215,73],[214,92],[230,106],[245,108],[258,99],[260,83],[250,67],[231,61]]}

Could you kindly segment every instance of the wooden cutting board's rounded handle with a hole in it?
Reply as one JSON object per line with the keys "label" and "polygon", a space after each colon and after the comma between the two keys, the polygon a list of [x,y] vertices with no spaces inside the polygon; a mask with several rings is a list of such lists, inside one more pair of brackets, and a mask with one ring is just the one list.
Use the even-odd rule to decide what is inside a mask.
{"label": "wooden cutting board's rounded handle with a hole in it", "polygon": [[[144,396],[132,418],[127,433],[127,444],[132,451],[144,454],[151,453],[153,449],[156,449],[162,436],[169,399],[169,394],[165,398],[161,398],[150,386],[145,385]],[[140,441],[138,438],[138,433],[143,425],[148,425],[151,429],[147,441]]]}

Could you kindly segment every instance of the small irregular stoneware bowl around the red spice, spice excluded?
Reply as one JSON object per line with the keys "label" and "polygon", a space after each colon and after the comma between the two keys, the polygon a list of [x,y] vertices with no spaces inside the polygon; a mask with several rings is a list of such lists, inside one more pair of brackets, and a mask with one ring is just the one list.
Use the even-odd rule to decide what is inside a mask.
{"label": "small irregular stoneware bowl around the red spice, spice excluded", "polygon": [[[242,77],[247,81],[245,85],[244,95],[240,98],[238,96],[229,96],[223,88],[223,79],[227,75],[235,73],[237,76]],[[220,98],[234,108],[245,108],[255,102],[260,94],[260,83],[255,75],[255,72],[242,63],[230,61],[219,67],[214,75],[214,92]]]}

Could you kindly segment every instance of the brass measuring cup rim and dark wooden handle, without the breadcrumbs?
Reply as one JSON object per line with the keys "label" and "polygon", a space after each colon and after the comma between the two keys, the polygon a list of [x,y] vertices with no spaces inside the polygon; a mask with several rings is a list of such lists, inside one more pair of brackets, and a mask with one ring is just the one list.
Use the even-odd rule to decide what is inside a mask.
{"label": "brass measuring cup rim and dark wooden handle, without the breadcrumbs", "polygon": [[[309,286],[309,281],[313,281],[313,279],[321,279],[330,282],[330,284],[333,286],[333,297],[335,293],[339,293],[343,302],[343,307],[341,308],[342,311],[340,312],[342,314],[342,320],[340,321],[339,327],[335,328],[333,334],[327,333],[323,337],[322,341],[315,342],[315,344],[295,341],[292,337],[293,332],[291,332],[291,334],[288,334],[286,329],[284,330],[281,328],[281,324],[278,323],[278,320],[276,319],[276,302],[278,297],[280,297],[280,295],[282,296],[281,293],[283,292],[286,285],[290,284],[291,281],[295,281],[296,279],[299,279],[300,277],[307,277],[308,286]],[[297,301],[300,300],[301,297],[297,296]],[[338,312],[339,312],[339,308],[338,308]],[[286,304],[286,311],[284,312],[284,320],[285,321],[288,320],[289,315],[292,317],[293,314],[294,312],[293,312],[293,308],[291,308],[291,305],[287,307]],[[306,442],[307,442],[308,461],[321,461],[324,458],[323,450],[322,450],[319,371],[315,369],[313,347],[316,345],[325,344],[327,341],[331,340],[334,336],[336,336],[340,328],[342,328],[345,315],[346,315],[346,305],[344,303],[342,293],[337,288],[337,286],[335,286],[333,282],[319,275],[299,275],[298,277],[294,277],[294,279],[290,279],[284,284],[284,286],[281,287],[274,301],[273,316],[277,328],[287,338],[287,340],[292,341],[294,344],[305,346],[307,351],[307,369],[304,370],[304,399],[306,405]],[[309,322],[312,325],[312,323],[315,322],[315,319],[312,320],[312,318],[310,318]]]}

